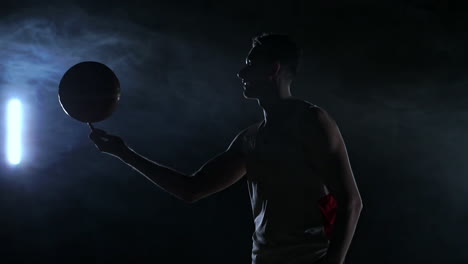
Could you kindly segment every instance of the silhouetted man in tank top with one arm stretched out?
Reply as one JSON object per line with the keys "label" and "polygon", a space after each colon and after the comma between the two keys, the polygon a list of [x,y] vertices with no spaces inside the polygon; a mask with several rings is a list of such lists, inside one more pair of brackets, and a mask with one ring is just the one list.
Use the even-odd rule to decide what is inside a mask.
{"label": "silhouetted man in tank top with one arm stretched out", "polygon": [[253,264],[341,264],[362,202],[335,121],[291,96],[300,53],[286,35],[253,39],[238,77],[244,97],[263,108],[264,120],[239,132],[226,151],[191,175],[140,156],[102,130],[93,128],[90,138],[102,152],[189,203],[246,177],[255,223]]}

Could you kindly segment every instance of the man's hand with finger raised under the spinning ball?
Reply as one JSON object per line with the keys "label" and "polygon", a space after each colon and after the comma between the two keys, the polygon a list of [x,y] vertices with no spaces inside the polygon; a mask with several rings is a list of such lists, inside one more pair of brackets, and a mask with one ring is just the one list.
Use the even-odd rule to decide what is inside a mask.
{"label": "man's hand with finger raised under the spinning ball", "polygon": [[89,134],[89,138],[101,152],[119,158],[128,149],[122,138],[107,134],[106,131],[94,128],[92,125],[90,127],[92,132]]}

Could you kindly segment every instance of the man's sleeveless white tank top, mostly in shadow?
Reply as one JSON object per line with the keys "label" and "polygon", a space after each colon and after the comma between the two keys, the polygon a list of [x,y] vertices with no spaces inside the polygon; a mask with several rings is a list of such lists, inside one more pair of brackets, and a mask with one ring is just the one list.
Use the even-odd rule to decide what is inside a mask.
{"label": "man's sleeveless white tank top, mostly in shadow", "polygon": [[292,103],[291,118],[270,128],[262,121],[243,135],[255,223],[252,264],[312,264],[329,245],[318,206],[327,190],[308,166],[298,134],[307,116],[298,104],[305,111],[314,105]]}

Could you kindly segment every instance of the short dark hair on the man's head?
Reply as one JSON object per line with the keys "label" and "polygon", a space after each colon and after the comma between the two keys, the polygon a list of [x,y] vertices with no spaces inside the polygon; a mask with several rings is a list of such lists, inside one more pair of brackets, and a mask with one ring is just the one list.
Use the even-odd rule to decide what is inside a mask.
{"label": "short dark hair on the man's head", "polygon": [[282,65],[289,66],[293,76],[296,75],[302,49],[290,36],[278,33],[262,33],[252,38],[252,47],[258,46],[267,49],[269,60],[279,60]]}

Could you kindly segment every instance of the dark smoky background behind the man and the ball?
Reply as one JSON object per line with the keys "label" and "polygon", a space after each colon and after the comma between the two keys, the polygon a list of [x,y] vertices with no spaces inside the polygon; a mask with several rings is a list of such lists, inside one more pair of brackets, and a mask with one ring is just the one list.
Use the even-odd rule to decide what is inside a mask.
{"label": "dark smoky background behind the man and the ball", "polygon": [[2,263],[249,263],[245,180],[185,204],[99,153],[57,91],[105,63],[122,97],[96,126],[192,173],[262,118],[236,73],[264,31],[303,47],[293,95],[347,144],[364,208],[346,263],[468,263],[467,9],[374,2],[2,1],[2,157],[9,98],[26,119],[22,163],[0,166]]}

